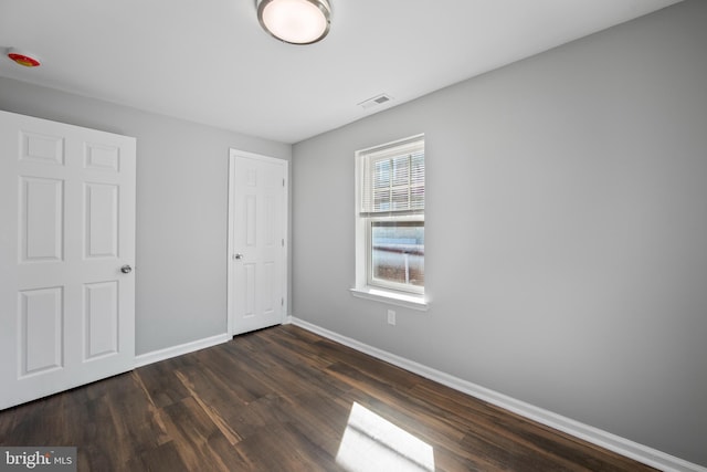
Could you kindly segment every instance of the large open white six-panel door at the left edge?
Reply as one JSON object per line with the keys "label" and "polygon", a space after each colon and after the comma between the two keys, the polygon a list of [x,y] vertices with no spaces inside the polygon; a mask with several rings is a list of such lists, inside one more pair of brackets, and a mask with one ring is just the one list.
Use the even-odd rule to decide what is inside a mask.
{"label": "large open white six-panel door at the left edge", "polygon": [[0,409],[133,368],[135,156],[0,112]]}

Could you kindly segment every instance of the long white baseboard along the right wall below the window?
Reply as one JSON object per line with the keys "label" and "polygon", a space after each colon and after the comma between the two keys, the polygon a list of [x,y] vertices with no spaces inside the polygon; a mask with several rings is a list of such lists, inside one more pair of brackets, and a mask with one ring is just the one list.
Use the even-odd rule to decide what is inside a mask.
{"label": "long white baseboard along the right wall below the window", "polygon": [[555,428],[559,431],[566,432],[587,442],[600,445],[604,449],[616,452],[626,458],[631,458],[635,461],[642,462],[646,465],[651,465],[658,470],[666,472],[707,472],[707,468],[704,468],[701,465],[687,462],[683,459],[666,454],[665,452],[658,451],[656,449],[648,448],[647,445],[630,441],[625,438],[621,438],[608,431],[603,431],[598,428],[563,417],[561,415],[553,413],[552,411],[535,407],[530,403],[526,403],[525,401],[517,400],[488,388],[472,384],[471,381],[463,380],[461,378],[430,368],[422,364],[418,364],[386,350],[378,349],[376,347],[360,343],[356,339],[341,336],[317,325],[313,325],[312,323],[308,323],[304,319],[291,317],[291,322],[296,326],[316,333],[345,346],[351,347],[356,350],[360,350],[361,353],[368,354],[378,359],[384,360],[394,366],[418,374],[422,377],[454,388],[455,390],[462,391],[472,397],[487,401],[492,405],[504,408],[508,411],[513,411],[514,413],[546,424],[550,428]]}

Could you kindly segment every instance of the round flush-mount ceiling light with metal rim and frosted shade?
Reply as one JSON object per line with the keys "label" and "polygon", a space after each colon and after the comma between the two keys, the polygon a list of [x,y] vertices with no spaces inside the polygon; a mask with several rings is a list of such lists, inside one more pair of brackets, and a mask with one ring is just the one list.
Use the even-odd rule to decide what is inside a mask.
{"label": "round flush-mount ceiling light with metal rim and frosted shade", "polygon": [[263,29],[286,43],[316,43],[329,32],[328,0],[256,0],[256,4]]}

